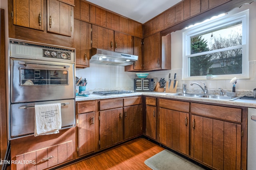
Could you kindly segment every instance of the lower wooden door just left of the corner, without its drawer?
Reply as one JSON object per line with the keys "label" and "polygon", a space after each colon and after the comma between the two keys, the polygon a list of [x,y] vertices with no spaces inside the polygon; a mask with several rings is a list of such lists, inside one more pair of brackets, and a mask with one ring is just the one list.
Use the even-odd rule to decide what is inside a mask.
{"label": "lower wooden door just left of the corner, without its drawer", "polygon": [[124,107],[124,140],[142,134],[141,104]]}

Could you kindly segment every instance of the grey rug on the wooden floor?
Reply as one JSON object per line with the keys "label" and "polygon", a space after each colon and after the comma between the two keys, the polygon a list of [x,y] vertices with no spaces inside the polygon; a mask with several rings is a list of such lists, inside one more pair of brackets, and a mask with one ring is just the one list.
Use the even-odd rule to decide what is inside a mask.
{"label": "grey rug on the wooden floor", "polygon": [[172,153],[163,150],[145,160],[145,164],[152,170],[204,170],[204,168]]}

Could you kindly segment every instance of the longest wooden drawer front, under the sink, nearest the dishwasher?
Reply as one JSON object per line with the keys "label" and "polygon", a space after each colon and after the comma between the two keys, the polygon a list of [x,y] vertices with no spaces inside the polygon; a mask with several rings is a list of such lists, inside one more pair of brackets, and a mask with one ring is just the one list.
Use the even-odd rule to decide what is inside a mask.
{"label": "longest wooden drawer front, under the sink, nearest the dishwasher", "polygon": [[242,122],[242,109],[229,108],[224,106],[212,106],[208,104],[191,103],[192,114],[209,116],[211,118],[227,120],[232,122]]}

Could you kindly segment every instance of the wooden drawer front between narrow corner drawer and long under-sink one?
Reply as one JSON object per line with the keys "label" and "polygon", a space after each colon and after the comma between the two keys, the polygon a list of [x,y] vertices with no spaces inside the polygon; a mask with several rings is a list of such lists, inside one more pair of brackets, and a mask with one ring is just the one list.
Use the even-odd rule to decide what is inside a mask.
{"label": "wooden drawer front between narrow corner drawer and long under-sink one", "polygon": [[171,110],[177,110],[180,112],[189,112],[189,102],[182,102],[176,100],[159,99],[159,107],[167,108]]}

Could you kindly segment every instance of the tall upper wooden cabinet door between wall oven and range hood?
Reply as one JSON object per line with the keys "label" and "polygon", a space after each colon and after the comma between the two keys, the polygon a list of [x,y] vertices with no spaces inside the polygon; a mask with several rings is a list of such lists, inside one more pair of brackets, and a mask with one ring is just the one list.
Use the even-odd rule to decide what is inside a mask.
{"label": "tall upper wooden cabinet door between wall oven and range hood", "polygon": [[90,40],[92,25],[80,20],[74,20],[74,48],[76,48],[76,67],[90,66]]}

